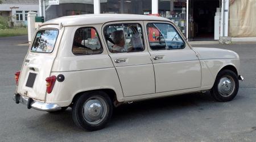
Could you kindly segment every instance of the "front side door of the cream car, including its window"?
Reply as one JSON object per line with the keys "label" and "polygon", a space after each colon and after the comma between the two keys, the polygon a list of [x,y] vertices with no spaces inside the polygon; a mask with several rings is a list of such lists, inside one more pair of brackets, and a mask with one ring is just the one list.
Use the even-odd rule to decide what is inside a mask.
{"label": "front side door of the cream car, including its window", "polygon": [[156,93],[200,87],[200,61],[175,27],[163,22],[144,24],[155,70]]}

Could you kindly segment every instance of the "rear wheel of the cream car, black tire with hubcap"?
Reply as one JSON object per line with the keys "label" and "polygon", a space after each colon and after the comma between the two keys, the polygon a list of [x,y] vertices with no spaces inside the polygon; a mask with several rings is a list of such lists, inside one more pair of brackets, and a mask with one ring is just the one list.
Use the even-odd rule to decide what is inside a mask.
{"label": "rear wheel of the cream car, black tire with hubcap", "polygon": [[108,94],[103,91],[90,91],[81,95],[73,104],[72,118],[77,127],[96,131],[106,126],[112,112],[113,105]]}

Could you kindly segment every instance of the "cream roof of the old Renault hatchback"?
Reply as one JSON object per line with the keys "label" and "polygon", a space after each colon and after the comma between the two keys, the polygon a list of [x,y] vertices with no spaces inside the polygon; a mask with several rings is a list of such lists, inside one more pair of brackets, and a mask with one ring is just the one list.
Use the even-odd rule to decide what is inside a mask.
{"label": "cream roof of the old Renault hatchback", "polygon": [[46,24],[63,24],[63,26],[77,26],[84,24],[103,24],[107,22],[122,21],[122,20],[160,20],[169,21],[167,18],[162,18],[159,16],[148,16],[148,15],[138,15],[138,14],[84,14],[84,15],[72,15],[63,16],[60,18],[48,20],[47,22],[41,24],[44,26]]}

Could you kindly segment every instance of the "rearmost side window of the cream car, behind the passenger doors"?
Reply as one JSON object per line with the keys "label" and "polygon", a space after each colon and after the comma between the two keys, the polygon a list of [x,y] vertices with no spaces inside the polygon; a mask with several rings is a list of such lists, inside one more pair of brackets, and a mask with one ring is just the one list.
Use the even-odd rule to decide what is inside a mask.
{"label": "rearmost side window of the cream car, behind the passenger doors", "polygon": [[76,30],[72,52],[74,55],[95,55],[103,52],[95,28],[82,27]]}

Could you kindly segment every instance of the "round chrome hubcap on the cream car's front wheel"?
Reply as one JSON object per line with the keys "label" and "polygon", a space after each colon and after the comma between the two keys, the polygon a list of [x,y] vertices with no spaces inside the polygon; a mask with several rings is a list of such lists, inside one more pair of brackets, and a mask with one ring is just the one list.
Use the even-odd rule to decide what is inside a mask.
{"label": "round chrome hubcap on the cream car's front wheel", "polygon": [[229,96],[234,91],[234,80],[231,77],[222,77],[218,83],[218,93],[222,96]]}

